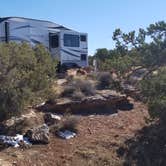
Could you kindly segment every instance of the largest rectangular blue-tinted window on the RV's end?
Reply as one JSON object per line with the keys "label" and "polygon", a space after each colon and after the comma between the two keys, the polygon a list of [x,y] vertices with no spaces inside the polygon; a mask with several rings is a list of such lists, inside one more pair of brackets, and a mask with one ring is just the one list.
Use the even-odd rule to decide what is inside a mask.
{"label": "largest rectangular blue-tinted window on the RV's end", "polygon": [[64,46],[66,47],[79,47],[80,41],[78,35],[64,34]]}

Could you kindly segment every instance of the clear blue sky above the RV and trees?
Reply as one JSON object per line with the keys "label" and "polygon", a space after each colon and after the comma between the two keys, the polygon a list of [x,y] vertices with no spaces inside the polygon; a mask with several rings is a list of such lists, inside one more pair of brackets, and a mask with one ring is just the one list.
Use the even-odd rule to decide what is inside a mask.
{"label": "clear blue sky above the RV and trees", "polygon": [[89,54],[114,47],[115,28],[128,32],[166,21],[166,0],[1,0],[0,17],[21,16],[63,24],[89,35]]}

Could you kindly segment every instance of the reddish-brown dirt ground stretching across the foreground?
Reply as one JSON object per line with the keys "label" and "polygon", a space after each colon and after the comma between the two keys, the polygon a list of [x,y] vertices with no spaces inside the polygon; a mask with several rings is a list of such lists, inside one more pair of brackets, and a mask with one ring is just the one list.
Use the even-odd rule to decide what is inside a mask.
{"label": "reddish-brown dirt ground stretching across the foreground", "polygon": [[[71,140],[52,136],[48,145],[34,145],[21,151],[9,148],[0,152],[2,159],[15,166],[120,166],[116,150],[145,126],[147,108],[130,99],[134,108],[112,115],[79,116],[78,135]],[[1,164],[2,165],[2,164]]]}

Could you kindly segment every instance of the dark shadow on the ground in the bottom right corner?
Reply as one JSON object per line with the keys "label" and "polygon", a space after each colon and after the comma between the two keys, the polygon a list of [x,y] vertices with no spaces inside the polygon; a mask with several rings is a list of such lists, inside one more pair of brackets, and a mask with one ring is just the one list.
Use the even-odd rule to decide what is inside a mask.
{"label": "dark shadow on the ground in the bottom right corner", "polygon": [[144,127],[117,150],[124,166],[165,166],[166,126],[152,124]]}

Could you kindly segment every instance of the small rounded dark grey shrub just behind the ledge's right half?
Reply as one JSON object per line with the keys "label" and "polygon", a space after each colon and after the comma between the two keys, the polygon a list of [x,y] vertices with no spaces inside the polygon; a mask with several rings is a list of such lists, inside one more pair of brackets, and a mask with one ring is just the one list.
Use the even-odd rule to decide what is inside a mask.
{"label": "small rounded dark grey shrub just behind the ledge's right half", "polygon": [[101,72],[98,74],[98,88],[105,89],[109,88],[112,78],[109,72]]}

